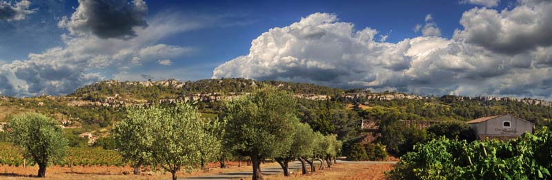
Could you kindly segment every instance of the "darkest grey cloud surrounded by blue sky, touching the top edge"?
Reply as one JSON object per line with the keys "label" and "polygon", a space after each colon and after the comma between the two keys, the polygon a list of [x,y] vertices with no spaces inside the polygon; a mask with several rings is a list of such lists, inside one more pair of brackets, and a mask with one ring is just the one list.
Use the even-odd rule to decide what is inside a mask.
{"label": "darkest grey cloud surrounded by blue sky, touching the top edge", "polygon": [[102,39],[131,39],[134,28],[146,28],[148,7],[143,0],[79,0],[79,8],[59,26],[73,34],[92,32]]}

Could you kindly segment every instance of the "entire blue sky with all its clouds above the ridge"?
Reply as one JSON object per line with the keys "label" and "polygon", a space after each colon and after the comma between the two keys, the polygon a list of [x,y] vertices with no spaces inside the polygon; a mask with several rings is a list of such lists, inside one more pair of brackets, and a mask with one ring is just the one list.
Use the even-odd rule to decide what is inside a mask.
{"label": "entire blue sky with all its clouds above the ridge", "polygon": [[105,79],[245,77],[551,99],[551,7],[537,0],[0,0],[0,11],[13,12],[0,16],[0,93],[67,94]]}

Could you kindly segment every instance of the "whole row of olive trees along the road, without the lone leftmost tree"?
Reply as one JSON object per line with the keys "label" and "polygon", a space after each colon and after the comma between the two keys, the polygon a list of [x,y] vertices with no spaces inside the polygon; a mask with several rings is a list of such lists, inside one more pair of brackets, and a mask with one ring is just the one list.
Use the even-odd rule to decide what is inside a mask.
{"label": "whole row of olive trees along the road, without the lone leftmost tree", "polygon": [[128,118],[113,130],[112,136],[122,156],[132,162],[135,174],[141,166],[164,168],[176,179],[181,167],[203,168],[210,161],[226,157],[248,156],[253,163],[253,179],[262,179],[260,164],[275,159],[288,176],[288,163],[299,159],[303,173],[306,164],[331,159],[341,149],[337,136],[313,132],[297,118],[297,101],[288,92],[275,87],[255,90],[226,103],[219,119],[202,119],[190,104],[135,107]]}

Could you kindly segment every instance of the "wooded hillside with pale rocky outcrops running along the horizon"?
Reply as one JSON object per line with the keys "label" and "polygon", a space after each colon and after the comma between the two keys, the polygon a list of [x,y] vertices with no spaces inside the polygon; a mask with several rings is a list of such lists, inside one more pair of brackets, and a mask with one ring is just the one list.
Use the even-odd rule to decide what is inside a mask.
{"label": "wooded hillside with pale rocky outcrops running along the horizon", "polygon": [[[216,117],[224,101],[270,84],[293,92],[301,104],[302,121],[336,134],[354,134],[358,119],[412,119],[433,121],[469,121],[478,117],[509,113],[550,126],[549,101],[511,97],[424,97],[399,92],[342,90],[311,83],[253,81],[250,79],[204,79],[179,82],[101,81],[62,97],[2,97],[0,121],[14,114],[41,112],[59,121],[71,121],[77,132],[105,132],[125,117],[124,108],[148,103],[195,103],[206,117]],[[337,120],[336,120],[337,119]],[[351,132],[348,132],[351,131]],[[75,133],[77,133],[75,132]]]}

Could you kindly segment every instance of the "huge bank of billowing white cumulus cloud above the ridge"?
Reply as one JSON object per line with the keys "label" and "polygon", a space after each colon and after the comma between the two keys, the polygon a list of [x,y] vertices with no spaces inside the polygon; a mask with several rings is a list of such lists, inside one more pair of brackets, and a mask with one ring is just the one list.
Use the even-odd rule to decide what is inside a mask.
{"label": "huge bank of billowing white cumulus cloud above the ridge", "polygon": [[[470,14],[464,13],[463,21],[480,18]],[[473,31],[472,26],[458,30],[453,39],[433,34],[397,43],[377,41],[378,32],[372,28],[355,31],[354,27],[335,14],[315,13],[272,28],[253,40],[248,54],[215,68],[213,78],[279,79],[417,94],[551,98],[552,47],[496,52],[462,37]]]}

